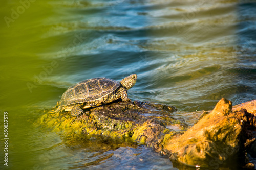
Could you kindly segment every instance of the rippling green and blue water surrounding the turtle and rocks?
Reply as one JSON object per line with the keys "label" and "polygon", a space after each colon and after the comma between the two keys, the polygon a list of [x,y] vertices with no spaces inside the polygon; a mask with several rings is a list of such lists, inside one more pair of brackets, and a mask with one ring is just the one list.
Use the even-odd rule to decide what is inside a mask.
{"label": "rippling green and blue water surrounding the turtle and rocks", "polygon": [[0,3],[0,103],[10,115],[11,169],[172,167],[140,145],[71,140],[34,126],[42,109],[85,79],[136,73],[130,98],[174,105],[188,125],[199,115],[187,112],[211,110],[222,97],[255,99],[253,2],[24,2]]}

